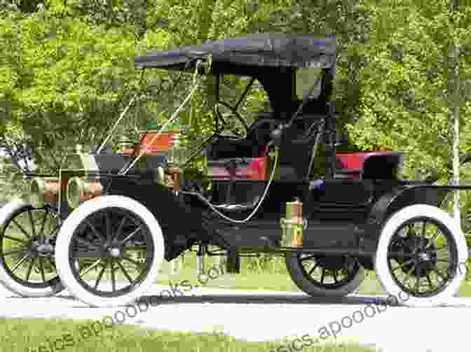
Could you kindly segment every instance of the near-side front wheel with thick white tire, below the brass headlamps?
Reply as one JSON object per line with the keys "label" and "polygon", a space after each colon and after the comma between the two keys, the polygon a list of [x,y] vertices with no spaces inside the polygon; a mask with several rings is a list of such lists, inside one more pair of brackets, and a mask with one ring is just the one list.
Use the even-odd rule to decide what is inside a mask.
{"label": "near-side front wheel with thick white tire, below the brass headlamps", "polygon": [[[126,270],[124,269],[123,262],[129,262],[128,259],[125,258],[130,257],[125,254],[127,253],[125,243],[128,243],[128,241],[133,240],[133,238],[135,238],[135,236],[138,236],[138,234],[142,234],[142,238],[146,240],[146,246],[144,251],[146,255],[149,255],[149,258],[146,259],[145,262],[146,268],[143,272],[139,272],[136,282],[132,283],[132,275],[130,275],[128,272],[128,276],[125,277],[130,282],[130,285],[127,288],[120,288],[119,290],[117,290],[116,287],[111,287],[111,293],[104,291],[101,288],[100,290],[98,290],[98,287],[92,287],[91,282],[88,282],[84,276],[79,277],[81,273],[78,273],[77,271],[76,260],[73,259],[74,251],[72,250],[71,246],[72,241],[74,242],[74,244],[82,243],[79,241],[82,241],[82,239],[85,238],[81,236],[83,236],[83,234],[86,234],[86,226],[88,226],[86,224],[86,221],[88,220],[86,219],[93,219],[93,217],[95,216],[96,220],[98,219],[97,216],[100,216],[100,214],[102,214],[102,216],[106,218],[107,212],[111,214],[109,215],[111,217],[117,216],[117,214],[122,213],[123,216],[121,220],[123,221],[123,223],[125,223],[126,221],[123,219],[128,217],[129,220],[134,219],[132,221],[135,223],[135,225],[138,225],[137,227],[135,227],[135,230],[132,230],[132,232],[130,232],[130,234],[121,234],[121,232],[124,231],[123,229],[125,228],[125,226],[123,226],[120,231],[119,229],[121,228],[121,224],[113,224],[110,221],[111,226],[114,227],[114,229],[118,227],[118,229],[116,229],[116,231],[111,231],[114,234],[113,236],[115,237],[113,241],[116,241],[116,247],[110,246],[108,250],[109,252],[107,253],[114,253],[116,249],[116,253],[114,253],[113,255],[118,255],[119,252],[119,255],[121,255],[121,257],[98,258],[97,261],[100,260],[98,265],[102,265],[102,267],[100,267],[100,271],[107,270],[107,266],[104,263],[109,262],[109,276],[111,276],[111,286],[114,286],[113,283],[115,281],[115,275],[116,272],[118,272],[118,269],[122,269],[122,274],[126,272]],[[104,225],[105,229],[107,228],[106,226],[107,225]],[[95,234],[95,236],[97,235],[96,232],[91,231],[91,228],[87,231]],[[135,233],[135,235],[132,235],[132,233]],[[102,236],[103,239],[108,238],[107,234],[102,235],[101,233],[99,233],[98,235]],[[120,237],[120,235],[124,238],[118,240],[118,237]],[[130,236],[134,237],[131,238]],[[126,240],[126,238],[128,237],[129,239]],[[77,241],[78,238],[80,239]],[[100,240],[95,241],[93,243],[93,246],[97,246],[97,243],[99,242]],[[121,250],[119,250],[118,243],[121,242],[123,242],[123,247],[121,248]],[[88,243],[91,244],[91,242]],[[103,241],[103,243],[105,243],[105,241]],[[109,256],[111,256],[111,254],[109,254]],[[78,208],[76,208],[65,219],[57,237],[57,243],[55,247],[57,272],[60,276],[62,283],[64,283],[64,286],[66,286],[67,289],[78,300],[81,300],[82,302],[85,302],[86,304],[89,304],[92,307],[118,307],[139,299],[142,295],[144,295],[144,293],[146,293],[147,290],[149,290],[150,286],[155,282],[158,276],[158,269],[163,261],[163,256],[163,234],[156,218],[148,209],[146,209],[145,206],[143,206],[139,202],[136,202],[134,199],[131,199],[129,197],[123,197],[118,195],[107,195],[103,197],[97,197],[78,206]],[[116,270],[111,269],[111,267],[116,267]],[[87,270],[88,269],[84,270],[83,272],[87,272]],[[104,276],[105,274],[102,275]],[[96,282],[97,281],[95,280],[95,284]],[[100,285],[100,283],[98,283],[98,285]]]}

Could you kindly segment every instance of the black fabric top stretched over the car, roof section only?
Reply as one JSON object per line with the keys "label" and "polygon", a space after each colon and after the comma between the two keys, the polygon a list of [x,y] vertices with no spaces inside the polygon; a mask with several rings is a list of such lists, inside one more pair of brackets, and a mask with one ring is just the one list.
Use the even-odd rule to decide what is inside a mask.
{"label": "black fabric top stretched over the car, roof section only", "polygon": [[175,50],[146,52],[144,56],[135,57],[135,66],[184,69],[186,64],[192,67],[195,59],[207,55],[212,55],[214,73],[238,73],[240,69],[260,66],[329,69],[336,64],[336,38],[310,34],[248,34],[184,45]]}

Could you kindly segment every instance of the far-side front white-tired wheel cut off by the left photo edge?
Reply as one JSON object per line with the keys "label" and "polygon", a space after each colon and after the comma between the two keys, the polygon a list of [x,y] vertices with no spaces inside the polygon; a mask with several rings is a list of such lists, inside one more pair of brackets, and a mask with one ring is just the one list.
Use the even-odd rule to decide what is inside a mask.
{"label": "far-side front white-tired wheel cut off by the left photo edge", "polygon": [[[41,224],[34,222],[34,229],[30,227],[31,224],[29,223],[26,226],[20,225],[26,233],[20,231],[15,222],[21,224],[21,219],[25,220],[25,214],[28,211],[34,213],[34,218],[36,218],[38,213],[39,216],[44,216],[46,221],[48,221],[48,230],[50,230],[49,225],[51,225],[49,222],[54,221],[54,213],[46,208],[34,208],[32,204],[22,199],[8,202],[0,209],[0,282],[8,290],[23,297],[53,296],[64,289],[53,267],[53,258],[50,256],[48,258],[34,258],[34,251],[25,253],[24,250],[20,249],[31,249],[32,243],[27,241],[28,236],[33,237],[34,234],[39,234],[41,231],[46,232],[46,225],[41,227],[42,221]],[[28,219],[26,218],[26,220]],[[55,223],[52,226],[55,226]],[[24,242],[13,241],[12,239],[19,239]],[[17,251],[18,253],[13,253]],[[16,255],[17,258],[12,258],[12,255]],[[49,269],[46,269],[46,266]],[[36,279],[34,279],[34,276],[36,276]]]}

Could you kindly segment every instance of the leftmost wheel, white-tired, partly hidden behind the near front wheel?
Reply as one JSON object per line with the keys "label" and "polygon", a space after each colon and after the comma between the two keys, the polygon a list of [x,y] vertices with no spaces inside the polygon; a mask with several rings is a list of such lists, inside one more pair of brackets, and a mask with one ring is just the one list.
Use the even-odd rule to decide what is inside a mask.
{"label": "leftmost wheel, white-tired, partly hidden behind the near front wheel", "polygon": [[55,269],[57,213],[20,199],[0,209],[0,281],[25,297],[46,297],[63,290]]}

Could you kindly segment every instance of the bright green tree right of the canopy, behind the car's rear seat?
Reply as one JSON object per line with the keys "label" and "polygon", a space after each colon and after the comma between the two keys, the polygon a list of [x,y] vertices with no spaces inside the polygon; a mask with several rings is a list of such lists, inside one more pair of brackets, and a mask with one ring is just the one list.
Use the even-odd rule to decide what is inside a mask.
{"label": "bright green tree right of the canopy, behind the car's rear seat", "polygon": [[[469,45],[471,17],[469,7],[451,13],[447,5],[385,1],[371,16],[371,41],[363,50],[369,64],[360,70],[360,115],[348,130],[360,148],[404,150],[411,177],[432,169],[449,176],[449,47],[454,38]],[[469,80],[469,57],[461,55],[460,65],[461,77]],[[469,114],[465,99],[460,109]],[[463,132],[469,128],[463,123]],[[465,150],[470,134],[462,136]]]}

